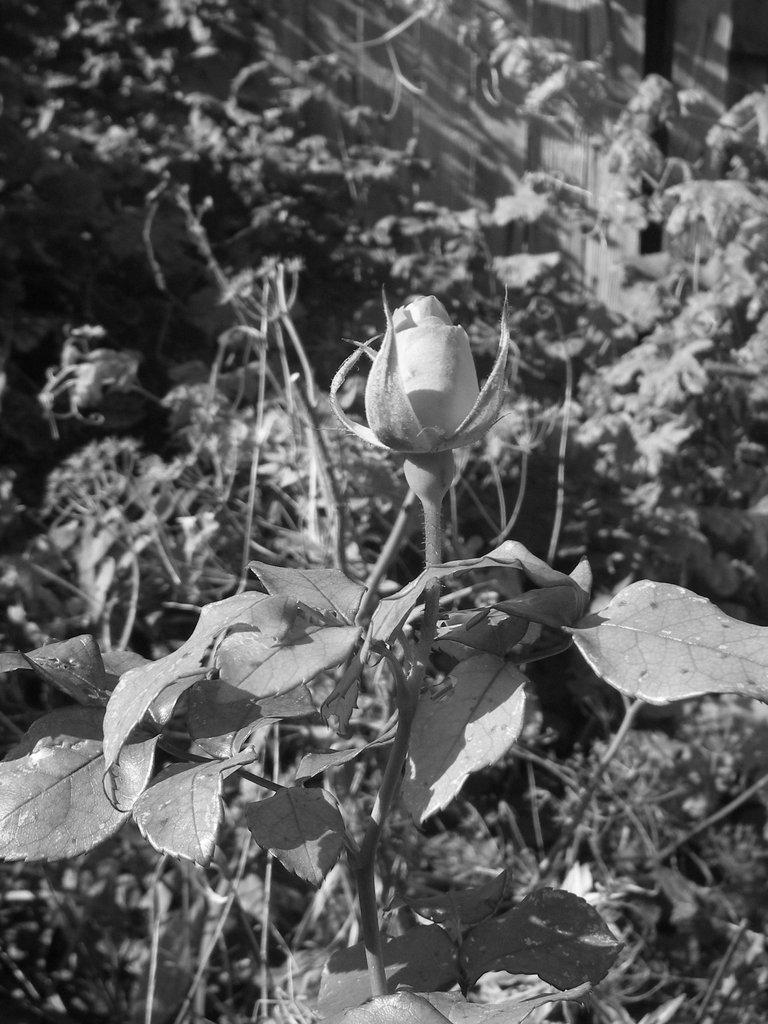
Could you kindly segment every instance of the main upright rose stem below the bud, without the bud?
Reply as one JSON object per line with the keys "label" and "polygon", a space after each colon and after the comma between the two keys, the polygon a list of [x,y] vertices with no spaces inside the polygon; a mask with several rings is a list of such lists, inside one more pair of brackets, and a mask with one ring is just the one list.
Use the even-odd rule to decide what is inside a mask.
{"label": "main upright rose stem below the bud, without the bud", "polygon": [[[424,554],[427,566],[440,561],[440,502],[421,499],[424,509],[425,543]],[[357,900],[359,903],[362,940],[366,947],[366,962],[371,980],[371,994],[387,994],[387,977],[384,969],[384,949],[379,930],[379,913],[376,901],[376,853],[389,811],[397,796],[402,778],[402,770],[411,741],[411,727],[416,714],[424,676],[429,664],[429,652],[437,629],[439,613],[440,581],[428,581],[424,595],[424,615],[419,642],[408,677],[398,662],[391,658],[389,664],[397,685],[397,730],[387,758],[381,786],[374,802],[371,818],[355,858]]]}

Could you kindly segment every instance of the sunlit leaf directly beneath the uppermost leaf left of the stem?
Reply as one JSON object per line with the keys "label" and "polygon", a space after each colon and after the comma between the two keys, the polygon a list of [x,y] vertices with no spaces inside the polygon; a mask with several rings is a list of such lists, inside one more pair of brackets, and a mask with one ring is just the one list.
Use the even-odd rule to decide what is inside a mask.
{"label": "sunlit leaf directly beneath the uppermost leaf left of the stem", "polygon": [[356,626],[297,624],[281,640],[265,643],[260,634],[241,630],[222,640],[216,662],[230,686],[253,696],[272,696],[339,665],[359,635]]}

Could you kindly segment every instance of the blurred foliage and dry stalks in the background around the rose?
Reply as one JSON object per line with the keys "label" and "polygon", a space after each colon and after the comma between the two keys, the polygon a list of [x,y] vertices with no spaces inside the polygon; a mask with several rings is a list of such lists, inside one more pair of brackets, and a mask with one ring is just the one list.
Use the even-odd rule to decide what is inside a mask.
{"label": "blurred foliage and dry stalks in the background around the rose", "polygon": [[[332,560],[365,580],[406,489],[396,466],[331,425],[324,392],[343,339],[380,330],[382,287],[392,304],[438,294],[481,362],[509,289],[519,382],[457,484],[450,553],[486,549],[514,510],[512,536],[536,554],[566,569],[589,556],[596,603],[649,578],[768,625],[765,95],[707,123],[706,159],[671,160],[662,129],[679,127],[695,97],[655,80],[628,89],[567,42],[500,25],[488,5],[475,41],[502,86],[506,76],[525,116],[565,137],[589,129],[613,193],[575,200],[534,168],[509,194],[450,209],[425,199],[439,168],[418,145],[384,145],[382,112],[339,98],[333,55],[281,59],[268,8],[2,3],[3,646],[94,632],[158,656],[254,556]],[[335,123],[342,133],[317,131]],[[608,308],[565,256],[532,244],[547,219],[608,234],[650,225],[665,246],[626,259]],[[350,387],[345,400],[358,409],[359,397]],[[414,518],[385,585],[413,573],[418,543]],[[462,804],[454,831],[419,849],[403,828],[393,863],[426,871],[429,855],[430,871],[456,877],[485,843],[489,860],[503,849],[530,872],[622,713],[567,656],[539,676],[527,760],[483,773],[469,794],[482,823]],[[51,699],[6,677],[3,743]],[[648,713],[643,725],[593,796],[599,843],[574,847],[569,865],[596,900],[621,906],[636,943],[596,1019],[640,1019],[681,993],[693,1000],[685,1020],[763,1019],[762,791],[696,831],[668,860],[672,877],[650,871],[647,844],[676,854],[761,779],[764,719],[723,701]],[[284,737],[275,766],[302,741]],[[350,794],[359,784],[337,779]],[[306,894],[273,878],[278,942],[265,867],[229,842],[222,878],[247,882],[226,919],[215,881],[158,864],[130,836],[83,862],[4,867],[13,1012],[141,1020],[167,952],[176,989],[170,974],[165,984],[179,993],[168,1019],[247,1020],[267,994],[270,1012],[284,1000],[281,1012],[298,1013],[323,950],[354,928],[344,880],[306,910]],[[208,1005],[206,985],[193,985],[201,956]]]}

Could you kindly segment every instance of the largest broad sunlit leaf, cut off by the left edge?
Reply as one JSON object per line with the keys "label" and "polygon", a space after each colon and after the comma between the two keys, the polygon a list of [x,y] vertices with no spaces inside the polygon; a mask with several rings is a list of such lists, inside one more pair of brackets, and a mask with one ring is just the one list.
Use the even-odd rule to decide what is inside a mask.
{"label": "largest broad sunlit leaf, cut off by the left edge", "polygon": [[123,749],[114,776],[117,807],[103,786],[102,718],[98,708],[51,712],[0,764],[0,856],[74,857],[126,821],[152,772],[154,741]]}

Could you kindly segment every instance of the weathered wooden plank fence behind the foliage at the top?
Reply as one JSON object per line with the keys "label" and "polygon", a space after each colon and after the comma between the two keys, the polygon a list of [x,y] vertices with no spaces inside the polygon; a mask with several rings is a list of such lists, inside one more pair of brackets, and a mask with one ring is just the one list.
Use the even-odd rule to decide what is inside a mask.
{"label": "weathered wooden plank fence behind the foliage at the top", "polygon": [[[671,154],[696,159],[708,123],[737,98],[730,75],[734,25],[735,36],[749,39],[744,26],[755,20],[756,6],[768,5],[762,0],[280,0],[267,18],[276,43],[273,57],[287,72],[303,68],[311,75],[313,60],[333,54],[338,98],[382,114],[380,143],[397,150],[411,144],[431,163],[434,175],[424,199],[456,210],[478,201],[493,207],[514,191],[526,171],[546,171],[583,189],[588,204],[598,207],[609,174],[604,146],[583,129],[564,134],[546,119],[520,113],[523,96],[514,78],[504,78],[500,87],[492,60],[493,18],[502,31],[507,26],[563,41],[575,59],[601,61],[625,83],[628,97],[649,73],[695,90],[694,114],[678,119],[666,142]],[[754,79],[753,69],[752,85]],[[585,231],[553,217],[509,234],[505,245],[532,253],[559,249],[584,284],[613,304],[622,259],[639,251],[640,234],[632,227]]]}

